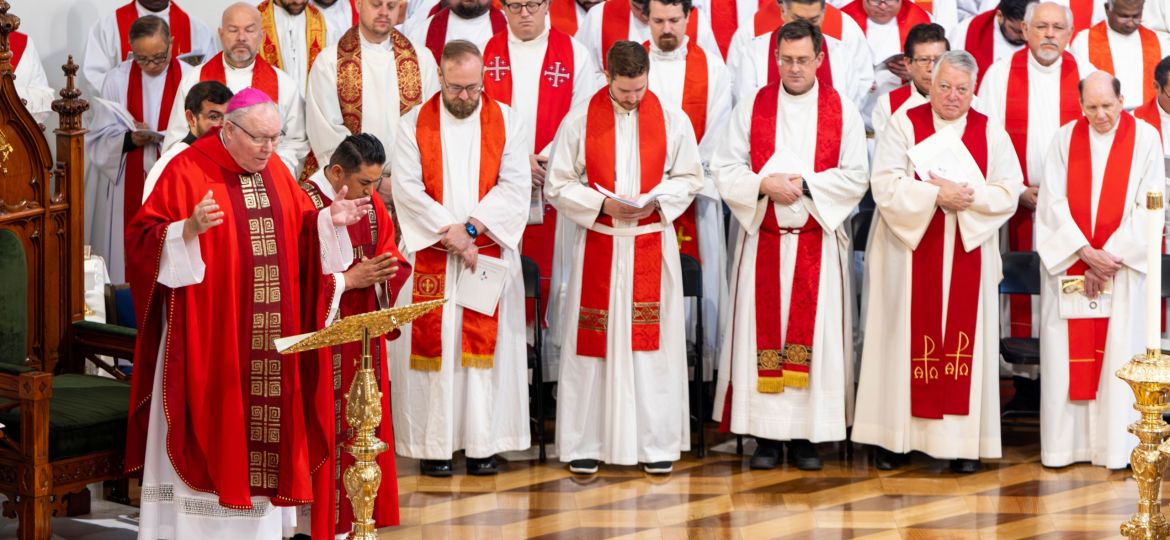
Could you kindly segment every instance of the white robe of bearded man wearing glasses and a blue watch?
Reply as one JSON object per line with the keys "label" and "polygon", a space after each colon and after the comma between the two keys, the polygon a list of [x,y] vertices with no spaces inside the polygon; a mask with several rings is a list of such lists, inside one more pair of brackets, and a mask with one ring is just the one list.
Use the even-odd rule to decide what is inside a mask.
{"label": "white robe of bearded man wearing glasses and a blue watch", "polygon": [[[424,51],[424,54],[426,54]],[[435,99],[440,99],[435,97]],[[426,105],[424,105],[426,106]],[[443,200],[435,201],[422,185],[422,165],[415,138],[419,110],[402,117],[394,140],[394,208],[402,233],[402,255],[414,263],[415,254],[442,238],[439,229],[461,227],[470,217],[480,220],[487,235],[501,248],[508,264],[496,311],[500,330],[490,369],[464,368],[460,360],[463,309],[453,300],[442,307],[442,365],[439,372],[410,368],[411,331],[390,342],[391,397],[394,413],[394,448],[415,459],[450,459],[466,450],[467,457],[486,458],[530,446],[528,425],[528,345],[524,334],[524,278],[519,262],[519,238],[524,233],[532,191],[528,148],[521,146],[519,123],[507,105],[503,159],[496,186],[479,198],[480,113],[482,106],[457,119],[440,106],[442,137]],[[481,255],[482,256],[482,255]],[[454,298],[456,278],[463,270],[461,257],[447,256],[446,297]],[[413,288],[412,275],[402,285]],[[397,305],[412,302],[399,295]]]}

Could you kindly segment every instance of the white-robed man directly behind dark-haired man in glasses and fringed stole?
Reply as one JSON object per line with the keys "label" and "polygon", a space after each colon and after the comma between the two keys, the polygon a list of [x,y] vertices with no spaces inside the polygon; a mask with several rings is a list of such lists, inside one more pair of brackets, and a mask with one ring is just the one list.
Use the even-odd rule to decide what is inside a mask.
{"label": "white-robed man directly behind dark-haired man in glasses and fringed stole", "polygon": [[[833,86],[861,109],[874,83],[873,60],[866,35],[852,18],[826,7],[823,0],[784,1],[783,22],[808,21],[825,36],[825,60],[817,71],[821,84]],[[779,26],[741,27],[731,42],[728,69],[734,82],[736,104],[751,101],[765,84],[779,78],[776,68],[776,37]]]}

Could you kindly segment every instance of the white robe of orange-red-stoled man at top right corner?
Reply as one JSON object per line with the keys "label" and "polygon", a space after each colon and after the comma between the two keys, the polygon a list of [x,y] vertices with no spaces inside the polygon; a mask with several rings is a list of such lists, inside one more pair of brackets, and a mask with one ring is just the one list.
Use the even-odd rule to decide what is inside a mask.
{"label": "white robe of orange-red-stoled man at top right corner", "polygon": [[[1106,25],[1106,37],[1109,40],[1109,53],[1113,57],[1113,75],[1121,81],[1121,96],[1126,98],[1126,110],[1133,110],[1145,103],[1145,89],[1152,84],[1154,74],[1145,72],[1142,55],[1142,36],[1135,30],[1131,34],[1114,32]],[[1157,35],[1157,34],[1155,34]],[[1081,30],[1073,37],[1068,51],[1076,57],[1078,65],[1083,70],[1101,69],[1089,62],[1089,30]],[[1158,35],[1158,60],[1170,55],[1170,40]]]}

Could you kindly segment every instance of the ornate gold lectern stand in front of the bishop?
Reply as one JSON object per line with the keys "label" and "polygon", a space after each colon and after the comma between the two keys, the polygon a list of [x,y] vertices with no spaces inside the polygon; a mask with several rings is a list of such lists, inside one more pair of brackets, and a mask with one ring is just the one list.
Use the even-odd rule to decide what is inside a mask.
{"label": "ornate gold lectern stand in front of the bishop", "polygon": [[[402,326],[442,305],[446,299],[421,302],[402,307],[363,313],[340,319],[319,332],[297,337],[296,342],[281,349],[283,354],[312,351],[321,347],[362,341],[362,365],[353,383],[345,394],[345,420],[353,428],[353,437],[345,443],[345,451],[353,456],[353,464],[345,469],[345,493],[353,506],[351,540],[374,540],[373,501],[381,484],[381,470],[376,462],[386,451],[386,443],[378,439],[374,429],[381,423],[381,392],[373,378],[370,339]],[[280,348],[280,346],[277,346]]]}

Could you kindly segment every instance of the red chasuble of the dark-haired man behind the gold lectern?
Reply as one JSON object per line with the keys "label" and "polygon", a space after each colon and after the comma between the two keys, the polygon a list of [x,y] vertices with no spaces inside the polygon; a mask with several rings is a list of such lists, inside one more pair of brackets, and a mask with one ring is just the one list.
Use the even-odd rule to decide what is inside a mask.
{"label": "red chasuble of the dark-haired man behind the gold lectern", "polygon": [[[301,188],[309,194],[314,206],[325,208],[332,205],[332,200],[322,193],[321,187],[312,180],[301,184]],[[402,257],[394,245],[394,222],[390,219],[381,198],[373,196],[370,200],[373,209],[349,227],[350,242],[353,244],[353,264],[363,257],[373,258],[378,255],[391,254],[398,259],[399,269],[394,277],[383,283],[380,286],[385,291],[385,306],[394,305],[402,284],[411,275],[411,265]],[[351,266],[352,268],[352,266]],[[329,302],[329,299],[323,299]],[[339,317],[350,317],[362,313],[370,313],[384,307],[378,300],[378,292],[374,288],[349,290],[342,293]],[[394,429],[393,416],[390,414],[390,374],[386,371],[386,339],[397,338],[395,330],[391,335],[379,337],[371,341],[371,354],[376,359],[373,364],[374,378],[378,381],[378,389],[381,392],[381,424],[376,435],[390,448],[378,456],[378,466],[381,469],[383,483],[378,489],[377,506],[374,506],[373,519],[378,527],[392,527],[398,525],[398,482],[397,466],[394,464]],[[350,499],[345,497],[345,487],[342,480],[342,472],[352,463],[353,457],[342,449],[349,439],[350,425],[345,418],[345,394],[353,382],[357,373],[356,359],[362,358],[360,344],[346,344],[333,347],[329,353],[332,368],[332,402],[333,415],[336,416],[336,430],[330,439],[330,448],[333,450],[325,466],[314,475],[314,501],[312,505],[312,535],[315,538],[332,538],[335,533],[344,534],[350,531],[353,521],[353,507]],[[338,463],[339,461],[339,463]],[[387,480],[390,479],[390,480]]]}

